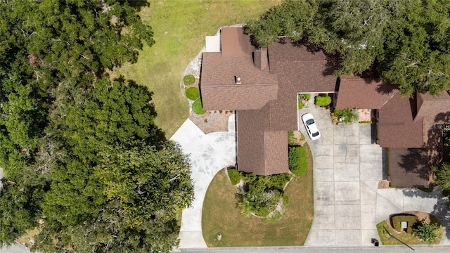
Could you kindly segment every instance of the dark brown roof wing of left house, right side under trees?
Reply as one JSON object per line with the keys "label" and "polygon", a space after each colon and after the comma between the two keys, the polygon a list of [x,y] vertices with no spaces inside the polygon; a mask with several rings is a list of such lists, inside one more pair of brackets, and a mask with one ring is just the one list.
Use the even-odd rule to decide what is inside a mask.
{"label": "dark brown roof wing of left house, right side under trees", "polygon": [[270,72],[278,76],[280,84],[293,85],[297,93],[336,91],[335,66],[328,65],[322,51],[314,52],[290,41],[269,46],[268,51]]}

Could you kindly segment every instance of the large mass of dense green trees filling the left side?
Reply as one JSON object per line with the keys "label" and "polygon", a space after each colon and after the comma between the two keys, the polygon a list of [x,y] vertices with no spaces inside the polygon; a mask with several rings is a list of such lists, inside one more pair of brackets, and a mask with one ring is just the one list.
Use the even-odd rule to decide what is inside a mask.
{"label": "large mass of dense green trees filling the left side", "polygon": [[190,205],[186,159],[152,93],[108,70],[153,32],[127,2],[0,4],[0,242],[44,252],[168,252]]}

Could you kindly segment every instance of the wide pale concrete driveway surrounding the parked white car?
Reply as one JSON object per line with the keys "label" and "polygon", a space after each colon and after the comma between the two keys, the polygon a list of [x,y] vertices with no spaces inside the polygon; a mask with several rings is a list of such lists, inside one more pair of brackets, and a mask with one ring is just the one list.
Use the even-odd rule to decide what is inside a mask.
{"label": "wide pale concrete driveway surrounding the parked white car", "polygon": [[[379,239],[377,223],[412,210],[435,214],[449,229],[448,201],[438,190],[378,189],[386,158],[372,143],[370,124],[332,124],[322,108],[304,108],[299,116],[306,112],[316,118],[322,137],[307,137],[314,157],[314,221],[305,245],[371,245],[371,238]],[[300,130],[306,136],[304,126]],[[441,244],[448,243],[444,236]]]}

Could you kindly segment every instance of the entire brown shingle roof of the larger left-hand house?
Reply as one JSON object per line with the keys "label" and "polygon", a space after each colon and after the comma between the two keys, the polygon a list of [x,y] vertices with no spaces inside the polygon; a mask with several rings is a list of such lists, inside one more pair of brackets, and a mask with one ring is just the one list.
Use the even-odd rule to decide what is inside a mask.
{"label": "entire brown shingle roof of the larger left-hand house", "polygon": [[334,69],[322,51],[278,43],[257,49],[242,27],[221,29],[221,51],[203,53],[205,110],[236,110],[240,171],[281,174],[288,167],[288,131],[297,131],[297,94],[334,92]]}

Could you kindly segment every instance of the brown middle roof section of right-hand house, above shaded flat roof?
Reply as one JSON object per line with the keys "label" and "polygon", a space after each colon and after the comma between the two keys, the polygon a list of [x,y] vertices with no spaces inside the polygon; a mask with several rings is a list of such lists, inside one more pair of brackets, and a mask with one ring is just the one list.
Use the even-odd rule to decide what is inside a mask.
{"label": "brown middle roof section of right-hand house, above shaded flat roof", "polygon": [[390,148],[423,147],[423,120],[413,122],[416,116],[416,99],[401,97],[396,93],[380,108],[378,139],[380,146]]}

